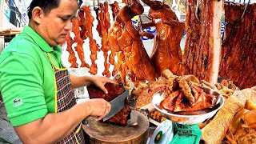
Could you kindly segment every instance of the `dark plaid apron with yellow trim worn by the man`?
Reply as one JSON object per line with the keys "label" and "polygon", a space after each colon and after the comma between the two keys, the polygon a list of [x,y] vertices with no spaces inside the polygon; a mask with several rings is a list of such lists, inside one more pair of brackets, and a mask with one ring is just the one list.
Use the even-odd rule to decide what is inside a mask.
{"label": "dark plaid apron with yellow trim worn by the man", "polygon": [[[74,98],[74,91],[71,88],[70,76],[66,68],[58,68],[54,66],[54,62],[51,60],[48,53],[47,57],[50,59],[50,63],[54,69],[54,80],[55,80],[55,113],[62,112],[70,109],[76,104]],[[84,144],[84,136],[82,131],[82,124],[80,123],[71,134],[67,135],[62,141],[58,143],[78,143]]]}

